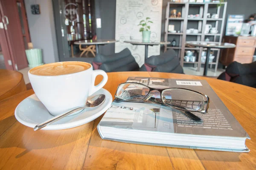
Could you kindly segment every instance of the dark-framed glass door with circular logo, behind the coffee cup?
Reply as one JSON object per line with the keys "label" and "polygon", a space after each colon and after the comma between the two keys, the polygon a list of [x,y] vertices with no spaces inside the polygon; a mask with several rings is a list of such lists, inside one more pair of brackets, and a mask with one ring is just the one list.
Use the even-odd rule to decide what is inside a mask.
{"label": "dark-framed glass door with circular logo, behind the coffee cup", "polygon": [[74,42],[96,35],[94,0],[56,0],[53,8],[60,61],[87,61]]}

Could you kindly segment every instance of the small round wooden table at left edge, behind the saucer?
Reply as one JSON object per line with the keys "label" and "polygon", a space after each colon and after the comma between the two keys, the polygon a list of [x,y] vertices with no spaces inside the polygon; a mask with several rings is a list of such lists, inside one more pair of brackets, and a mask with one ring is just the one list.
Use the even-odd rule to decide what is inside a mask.
{"label": "small round wooden table at left edge, behind the saucer", "polygon": [[26,91],[23,74],[18,71],[0,69],[0,100]]}

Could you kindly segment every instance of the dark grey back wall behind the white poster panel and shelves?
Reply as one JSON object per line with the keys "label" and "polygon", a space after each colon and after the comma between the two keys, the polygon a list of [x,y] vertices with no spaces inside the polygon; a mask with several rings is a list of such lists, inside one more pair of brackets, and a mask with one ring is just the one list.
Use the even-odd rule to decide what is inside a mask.
{"label": "dark grey back wall behind the white poster panel and shelves", "polygon": [[[164,40],[164,25],[166,6],[170,0],[163,0],[162,8],[162,26],[161,26],[161,40]],[[101,18],[102,28],[96,28],[96,34],[98,39],[115,39],[115,26],[116,26],[116,0],[95,0],[95,12],[96,18]],[[244,14],[244,18],[250,16],[250,14],[256,13],[256,0],[227,0],[227,12],[228,14]],[[225,34],[226,22],[224,25]],[[163,48],[163,47],[161,47]],[[100,51],[103,54],[113,54],[115,51],[115,45],[105,45],[100,47]],[[163,51],[163,50],[161,50]]]}

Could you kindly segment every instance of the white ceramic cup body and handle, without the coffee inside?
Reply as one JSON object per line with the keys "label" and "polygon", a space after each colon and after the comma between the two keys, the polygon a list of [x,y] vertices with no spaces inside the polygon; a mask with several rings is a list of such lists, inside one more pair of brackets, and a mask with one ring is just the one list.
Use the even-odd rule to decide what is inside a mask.
{"label": "white ceramic cup body and handle, without the coffee inside", "polygon": [[[93,70],[92,65],[87,64],[90,65],[90,68],[86,70],[56,76],[35,75],[30,72],[34,68],[29,70],[29,80],[36,96],[53,116],[84,106],[87,97],[106,84],[108,75],[105,71]],[[95,86],[94,82],[97,75],[102,75],[103,80]]]}

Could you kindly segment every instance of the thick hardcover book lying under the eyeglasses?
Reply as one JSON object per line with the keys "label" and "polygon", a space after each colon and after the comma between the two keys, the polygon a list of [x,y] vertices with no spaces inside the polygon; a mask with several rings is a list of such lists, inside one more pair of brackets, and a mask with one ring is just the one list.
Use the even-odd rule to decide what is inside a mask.
{"label": "thick hardcover book lying under the eyeglasses", "polygon": [[[208,112],[192,112],[203,119],[196,122],[183,111],[167,106],[115,99],[97,126],[102,139],[193,149],[249,151],[245,140],[250,137],[206,80],[129,77],[127,82],[138,82],[151,88],[175,87],[201,92],[210,98]],[[156,95],[159,97],[160,93]]]}

